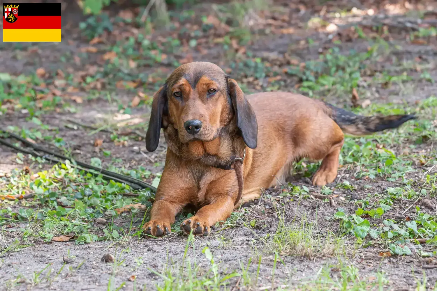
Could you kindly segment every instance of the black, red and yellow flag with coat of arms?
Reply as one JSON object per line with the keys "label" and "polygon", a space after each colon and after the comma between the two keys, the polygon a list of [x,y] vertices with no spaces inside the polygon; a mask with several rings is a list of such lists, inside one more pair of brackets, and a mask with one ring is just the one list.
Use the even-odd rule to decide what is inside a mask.
{"label": "black, red and yellow flag with coat of arms", "polygon": [[61,3],[3,3],[3,41],[61,41]]}

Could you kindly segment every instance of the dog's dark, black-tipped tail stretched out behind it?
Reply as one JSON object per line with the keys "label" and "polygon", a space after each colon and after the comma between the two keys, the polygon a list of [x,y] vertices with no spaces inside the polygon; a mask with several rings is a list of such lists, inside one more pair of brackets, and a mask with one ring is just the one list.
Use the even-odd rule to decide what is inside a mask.
{"label": "dog's dark, black-tipped tail stretched out behind it", "polygon": [[397,128],[408,120],[416,119],[412,114],[387,116],[362,116],[326,103],[326,113],[337,123],[343,132],[353,135],[372,134],[390,128]]}

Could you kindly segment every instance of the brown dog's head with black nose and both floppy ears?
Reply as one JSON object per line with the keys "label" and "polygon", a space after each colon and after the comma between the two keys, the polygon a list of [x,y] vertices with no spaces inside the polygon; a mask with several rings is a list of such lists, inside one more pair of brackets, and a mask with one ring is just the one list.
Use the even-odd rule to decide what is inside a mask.
{"label": "brown dog's head with black nose and both floppy ears", "polygon": [[236,81],[212,63],[181,65],[153,96],[146,148],[155,151],[167,127],[183,144],[214,140],[233,118],[245,144],[257,147],[257,119]]}

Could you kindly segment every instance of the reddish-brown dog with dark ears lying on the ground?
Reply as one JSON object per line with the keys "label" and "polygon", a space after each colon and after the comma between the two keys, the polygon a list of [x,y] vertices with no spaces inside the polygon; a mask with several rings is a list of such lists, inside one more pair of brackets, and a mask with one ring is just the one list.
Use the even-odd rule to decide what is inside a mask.
{"label": "reddish-brown dog with dark ears lying on the ground", "polygon": [[[194,205],[199,210],[181,229],[207,235],[209,226],[231,214],[234,203],[239,206],[259,197],[261,188],[283,183],[292,163],[301,158],[322,160],[313,185],[333,182],[343,131],[370,134],[413,118],[357,116],[287,92],[246,97],[217,65],[181,65],[153,96],[146,148],[156,150],[163,128],[168,149],[150,221],[143,230],[153,236],[168,234],[177,213]],[[243,159],[241,201],[236,201],[235,158]]]}

